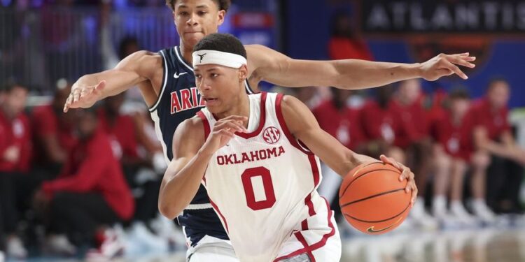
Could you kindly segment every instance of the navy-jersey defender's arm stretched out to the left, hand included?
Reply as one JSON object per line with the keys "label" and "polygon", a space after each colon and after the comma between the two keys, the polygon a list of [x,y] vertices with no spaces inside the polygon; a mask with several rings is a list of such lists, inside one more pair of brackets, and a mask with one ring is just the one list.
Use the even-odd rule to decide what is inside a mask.
{"label": "navy-jersey defender's arm stretched out to the left, hand included", "polygon": [[162,68],[159,54],[139,51],[130,54],[113,69],[83,75],[71,87],[64,112],[69,108],[90,108],[99,100],[120,94],[153,78],[158,68]]}

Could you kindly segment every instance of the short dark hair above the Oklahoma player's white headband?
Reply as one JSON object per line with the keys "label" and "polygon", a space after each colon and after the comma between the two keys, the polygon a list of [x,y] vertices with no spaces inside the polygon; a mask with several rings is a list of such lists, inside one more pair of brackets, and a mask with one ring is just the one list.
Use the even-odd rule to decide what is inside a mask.
{"label": "short dark hair above the Oklahoma player's white headband", "polygon": [[232,54],[239,54],[244,58],[246,56],[246,49],[242,45],[241,41],[231,34],[209,34],[195,45],[193,52],[199,50],[215,50],[221,52],[228,52]]}

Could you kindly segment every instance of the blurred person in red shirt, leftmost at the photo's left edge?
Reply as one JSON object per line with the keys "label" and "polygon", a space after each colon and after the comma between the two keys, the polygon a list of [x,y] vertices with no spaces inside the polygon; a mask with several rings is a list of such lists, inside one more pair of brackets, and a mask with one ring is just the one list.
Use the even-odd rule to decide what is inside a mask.
{"label": "blurred person in red shirt, leftmost at the photo's left edge", "polygon": [[8,84],[0,90],[0,220],[5,233],[0,235],[0,247],[1,238],[7,236],[6,254],[18,259],[27,256],[22,241],[15,235],[16,185],[21,173],[29,171],[31,157],[29,121],[23,113],[26,98],[27,89],[20,85]]}

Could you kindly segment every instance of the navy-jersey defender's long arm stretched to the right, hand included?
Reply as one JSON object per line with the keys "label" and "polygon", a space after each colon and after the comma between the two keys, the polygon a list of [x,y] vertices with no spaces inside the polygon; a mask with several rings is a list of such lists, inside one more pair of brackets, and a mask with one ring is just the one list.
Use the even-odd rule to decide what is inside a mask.
{"label": "navy-jersey defender's long arm stretched to the right, hand included", "polygon": [[312,61],[291,59],[262,45],[246,45],[251,81],[265,80],[284,87],[325,86],[341,89],[381,87],[412,78],[437,80],[456,74],[467,75],[459,66],[472,68],[475,57],[469,53],[438,54],[423,63],[402,64],[344,59]]}

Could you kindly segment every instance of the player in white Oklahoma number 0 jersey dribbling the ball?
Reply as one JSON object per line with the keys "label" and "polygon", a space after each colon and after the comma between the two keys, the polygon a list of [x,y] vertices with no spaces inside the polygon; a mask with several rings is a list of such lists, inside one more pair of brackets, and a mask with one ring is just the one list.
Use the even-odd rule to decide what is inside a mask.
{"label": "player in white Oklahoma number 0 jersey dribbling the ball", "polygon": [[[337,225],[316,191],[318,157],[342,176],[377,160],[344,147],[292,96],[246,94],[246,50],[234,36],[211,34],[194,50],[206,108],[174,134],[174,158],[160,189],[162,214],[179,214],[202,183],[240,261],[339,261]],[[414,174],[394,164],[415,198]]]}

